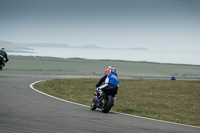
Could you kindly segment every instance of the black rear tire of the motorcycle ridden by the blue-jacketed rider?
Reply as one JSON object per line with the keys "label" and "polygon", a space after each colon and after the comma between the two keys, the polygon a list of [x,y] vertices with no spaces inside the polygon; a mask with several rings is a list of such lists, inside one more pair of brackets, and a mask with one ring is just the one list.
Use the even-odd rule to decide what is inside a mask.
{"label": "black rear tire of the motorcycle ridden by the blue-jacketed rider", "polygon": [[113,96],[108,95],[107,99],[105,99],[105,100],[107,100],[107,101],[105,102],[104,105],[102,105],[101,110],[103,113],[108,113],[113,106],[114,99],[113,99]]}

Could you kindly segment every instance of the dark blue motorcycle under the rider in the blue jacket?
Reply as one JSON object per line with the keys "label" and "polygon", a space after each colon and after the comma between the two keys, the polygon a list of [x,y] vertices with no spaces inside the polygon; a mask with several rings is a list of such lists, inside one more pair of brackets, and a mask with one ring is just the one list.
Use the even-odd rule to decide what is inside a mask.
{"label": "dark blue motorcycle under the rider in the blue jacket", "polygon": [[103,113],[108,113],[110,109],[114,106],[114,100],[116,99],[117,87],[107,88],[100,96],[99,91],[96,89],[95,97],[92,100],[90,109],[95,110],[96,108],[101,109]]}

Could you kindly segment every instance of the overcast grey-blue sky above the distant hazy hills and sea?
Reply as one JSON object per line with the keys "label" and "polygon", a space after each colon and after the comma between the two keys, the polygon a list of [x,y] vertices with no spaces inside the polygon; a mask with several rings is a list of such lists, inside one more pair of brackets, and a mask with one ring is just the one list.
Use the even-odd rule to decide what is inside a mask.
{"label": "overcast grey-blue sky above the distant hazy hills and sea", "polygon": [[200,1],[0,0],[0,40],[200,50]]}

